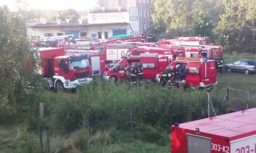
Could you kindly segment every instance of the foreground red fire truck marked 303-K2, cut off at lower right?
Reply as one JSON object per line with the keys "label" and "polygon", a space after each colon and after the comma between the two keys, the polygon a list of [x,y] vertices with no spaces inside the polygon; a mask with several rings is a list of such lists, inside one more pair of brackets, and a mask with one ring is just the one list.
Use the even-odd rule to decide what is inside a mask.
{"label": "foreground red fire truck marked 303-K2, cut off at lower right", "polygon": [[255,153],[256,108],[171,127],[172,153]]}

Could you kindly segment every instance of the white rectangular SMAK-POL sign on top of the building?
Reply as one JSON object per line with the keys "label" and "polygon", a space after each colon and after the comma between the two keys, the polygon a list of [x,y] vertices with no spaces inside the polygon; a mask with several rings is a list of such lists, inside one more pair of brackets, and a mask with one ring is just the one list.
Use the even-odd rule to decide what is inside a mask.
{"label": "white rectangular SMAK-POL sign on top of the building", "polygon": [[129,23],[128,12],[113,12],[113,13],[89,13],[88,23],[89,24],[106,24],[116,22],[127,22]]}

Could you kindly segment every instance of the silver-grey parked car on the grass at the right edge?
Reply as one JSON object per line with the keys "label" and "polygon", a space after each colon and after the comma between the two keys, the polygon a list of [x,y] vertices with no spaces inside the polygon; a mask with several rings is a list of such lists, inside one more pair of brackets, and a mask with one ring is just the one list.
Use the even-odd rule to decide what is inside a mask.
{"label": "silver-grey parked car on the grass at the right edge", "polygon": [[230,73],[232,71],[243,72],[246,75],[256,73],[256,61],[253,59],[241,59],[234,63],[225,64],[224,68]]}

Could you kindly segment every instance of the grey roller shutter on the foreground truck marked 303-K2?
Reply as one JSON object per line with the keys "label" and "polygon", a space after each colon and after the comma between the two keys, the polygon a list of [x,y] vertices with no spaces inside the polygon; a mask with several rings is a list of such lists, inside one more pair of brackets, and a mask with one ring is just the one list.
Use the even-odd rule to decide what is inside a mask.
{"label": "grey roller shutter on the foreground truck marked 303-K2", "polygon": [[211,138],[187,135],[188,153],[211,153]]}

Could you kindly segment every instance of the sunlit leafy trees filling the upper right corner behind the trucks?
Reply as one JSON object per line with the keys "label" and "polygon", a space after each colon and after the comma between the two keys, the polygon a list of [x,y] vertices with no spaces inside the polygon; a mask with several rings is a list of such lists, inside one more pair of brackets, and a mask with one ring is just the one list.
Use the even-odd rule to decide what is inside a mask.
{"label": "sunlit leafy trees filling the upper right corner behind the trucks", "polygon": [[228,52],[256,52],[255,0],[155,0],[152,33],[156,40],[208,36]]}

